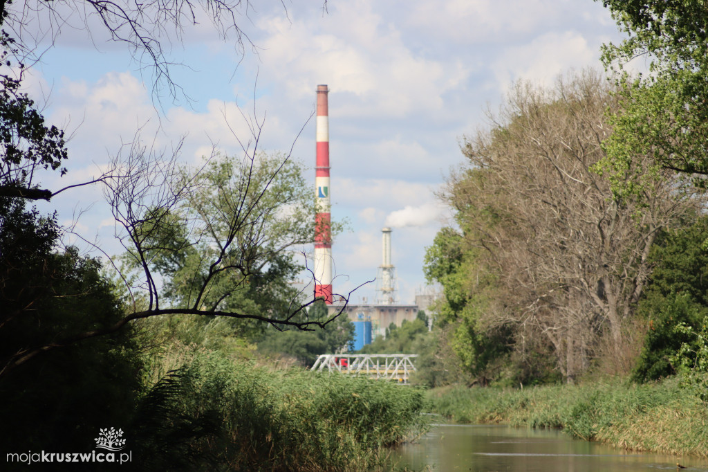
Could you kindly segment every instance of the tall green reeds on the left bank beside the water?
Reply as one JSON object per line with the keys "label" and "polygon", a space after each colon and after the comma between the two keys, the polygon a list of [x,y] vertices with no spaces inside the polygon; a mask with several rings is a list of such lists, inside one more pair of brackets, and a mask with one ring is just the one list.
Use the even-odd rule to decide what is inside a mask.
{"label": "tall green reeds on the left bank beside the water", "polygon": [[144,451],[186,451],[199,458],[175,461],[189,463],[188,470],[366,471],[383,461],[385,446],[425,427],[424,395],[415,388],[302,369],[273,371],[218,352],[190,357],[166,377],[178,388],[165,390],[170,408],[162,408],[159,431],[169,434],[174,426],[187,433],[185,426],[195,425],[202,434],[186,434],[188,447]]}

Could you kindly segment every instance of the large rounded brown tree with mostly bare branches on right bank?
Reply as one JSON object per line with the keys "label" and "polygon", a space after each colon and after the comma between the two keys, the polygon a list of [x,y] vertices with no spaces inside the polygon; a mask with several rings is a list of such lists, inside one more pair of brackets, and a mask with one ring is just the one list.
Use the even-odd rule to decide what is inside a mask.
{"label": "large rounded brown tree with mostly bare branches on right bank", "polygon": [[520,84],[491,128],[465,137],[469,167],[444,195],[458,228],[438,234],[426,271],[445,288],[439,322],[456,325],[469,373],[498,377],[500,356],[522,383],[634,368],[649,315],[639,306],[681,277],[661,271],[677,263],[661,250],[677,252],[677,232],[700,228],[703,198],[639,155],[641,189],[613,193],[599,164],[618,107],[617,89],[592,72],[555,89]]}

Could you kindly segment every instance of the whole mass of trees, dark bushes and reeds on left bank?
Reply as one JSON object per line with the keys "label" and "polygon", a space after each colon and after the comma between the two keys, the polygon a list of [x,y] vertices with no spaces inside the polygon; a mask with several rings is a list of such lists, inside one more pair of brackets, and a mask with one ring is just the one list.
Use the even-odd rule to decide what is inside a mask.
{"label": "whole mass of trees, dark bushes and reeds on left bank", "polygon": [[[24,186],[66,143],[19,80],[0,84],[4,470],[26,466],[7,454],[89,452],[110,429],[130,470],[368,471],[424,429],[420,390],[302,369],[353,327],[289,283],[304,269],[289,248],[314,235],[300,164],[251,150],[191,169],[138,145],[103,176],[126,248],[106,263],[30,207]],[[297,366],[258,365],[281,349]]]}

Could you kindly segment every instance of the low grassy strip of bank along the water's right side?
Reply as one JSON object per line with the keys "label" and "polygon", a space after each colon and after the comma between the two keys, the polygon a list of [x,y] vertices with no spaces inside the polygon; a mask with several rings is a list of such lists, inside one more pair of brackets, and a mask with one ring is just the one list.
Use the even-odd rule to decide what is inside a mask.
{"label": "low grassy strip of bank along the water's right side", "polygon": [[708,406],[675,378],[524,389],[430,390],[433,411],[456,422],[562,428],[632,451],[708,456]]}

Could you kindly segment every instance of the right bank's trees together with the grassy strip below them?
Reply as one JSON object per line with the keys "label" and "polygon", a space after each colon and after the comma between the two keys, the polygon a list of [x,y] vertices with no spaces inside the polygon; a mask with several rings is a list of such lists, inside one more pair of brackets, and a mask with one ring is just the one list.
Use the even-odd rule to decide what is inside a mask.
{"label": "right bank's trees together with the grassy strip below them", "polygon": [[441,193],[455,224],[426,257],[444,295],[438,345],[464,383],[432,390],[432,408],[708,456],[704,179],[668,165],[658,141],[619,146],[615,125],[637,137],[653,119],[631,108],[630,122],[624,86],[593,72],[518,84],[464,138],[467,165]]}

